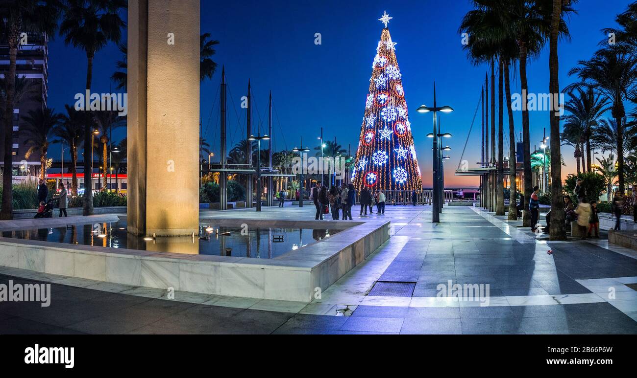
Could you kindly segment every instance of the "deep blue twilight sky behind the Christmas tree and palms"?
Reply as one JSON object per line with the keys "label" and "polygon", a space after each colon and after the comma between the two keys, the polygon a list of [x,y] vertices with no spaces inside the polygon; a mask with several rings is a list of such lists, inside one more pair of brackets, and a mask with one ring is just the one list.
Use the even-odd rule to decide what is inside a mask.
{"label": "deep blue twilight sky behind the Christmas tree and palms", "polygon": [[[568,70],[578,60],[590,58],[598,49],[598,43],[604,37],[600,29],[613,27],[615,15],[624,11],[629,3],[629,0],[580,0],[575,5],[578,14],[568,20],[572,38],[559,44],[561,88],[574,80],[569,78]],[[441,118],[443,131],[454,134],[454,138],[446,140],[453,149],[449,152],[452,159],[445,163],[447,186],[476,186],[477,179],[453,176],[487,70],[485,65],[471,65],[462,50],[457,29],[462,16],[470,9],[469,0],[393,3],[376,0],[203,0],[201,32],[210,32],[213,39],[220,41],[213,58],[219,64],[218,71],[211,81],[201,86],[203,136],[213,144],[213,151],[218,152],[217,102],[221,65],[225,65],[231,92],[228,99],[229,146],[245,138],[245,111],[240,108],[240,102],[247,93],[250,79],[255,103],[253,130],[261,123],[261,133],[266,133],[268,93],[270,90],[273,93],[275,151],[298,146],[301,137],[304,145],[315,147],[323,127],[326,140],[336,137],[346,149],[351,144],[354,153],[371,64],[383,27],[378,18],[386,10],[393,17],[389,29],[392,39],[397,42],[396,55],[403,74],[424,185],[431,185],[431,140],[425,135],[431,132],[432,116],[418,114],[415,109],[421,104],[433,104],[433,83],[436,81],[438,104],[455,109]],[[315,44],[315,33],[321,34],[322,44]],[[83,91],[86,57],[82,51],[65,46],[61,37],[50,43],[49,51],[48,105],[62,111],[64,104],[73,104],[75,93]],[[93,91],[114,91],[110,76],[120,58],[113,44],[97,53]],[[527,75],[529,92],[548,92],[548,47],[539,58],[529,62]],[[519,88],[516,76],[512,80],[512,92],[519,93]],[[548,128],[548,112],[530,113],[533,148],[533,145],[540,145],[543,128]],[[519,136],[522,113],[514,112],[514,118]],[[478,110],[464,154],[470,166],[480,161],[480,127]],[[508,140],[506,110],[504,127]],[[119,132],[117,139],[124,136],[124,131]],[[507,151],[508,142],[505,142],[505,154]],[[59,155],[59,147],[52,153]],[[574,172],[573,149],[564,147],[562,154],[567,164],[566,173]]]}

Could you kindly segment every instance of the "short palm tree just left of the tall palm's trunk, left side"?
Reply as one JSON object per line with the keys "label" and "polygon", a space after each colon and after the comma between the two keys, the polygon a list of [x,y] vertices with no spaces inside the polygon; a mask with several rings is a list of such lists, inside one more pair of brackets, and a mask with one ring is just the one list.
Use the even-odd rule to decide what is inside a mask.
{"label": "short palm tree just left of the tall palm's trunk, left side", "polygon": [[71,171],[71,175],[73,176],[71,179],[71,196],[77,196],[78,149],[80,148],[80,144],[82,144],[84,125],[85,123],[89,122],[89,120],[87,119],[88,113],[76,111],[75,108],[69,105],[64,105],[64,107],[66,107],[66,115],[61,116],[59,125],[57,125],[54,129],[53,133],[56,137],[58,137],[57,140],[54,140],[54,143],[63,143],[69,146],[69,152],[71,154],[71,164],[69,165],[69,170]]}

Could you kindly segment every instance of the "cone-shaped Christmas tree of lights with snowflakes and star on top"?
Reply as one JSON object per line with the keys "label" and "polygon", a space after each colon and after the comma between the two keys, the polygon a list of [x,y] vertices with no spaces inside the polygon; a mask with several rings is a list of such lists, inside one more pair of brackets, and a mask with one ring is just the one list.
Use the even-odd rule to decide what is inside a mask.
{"label": "cone-shaped Christmas tree of lights with snowflakes and star on top", "polygon": [[356,151],[354,186],[358,191],[363,187],[381,191],[422,189],[396,43],[387,29],[390,19],[387,12],[379,19],[385,28],[376,48]]}

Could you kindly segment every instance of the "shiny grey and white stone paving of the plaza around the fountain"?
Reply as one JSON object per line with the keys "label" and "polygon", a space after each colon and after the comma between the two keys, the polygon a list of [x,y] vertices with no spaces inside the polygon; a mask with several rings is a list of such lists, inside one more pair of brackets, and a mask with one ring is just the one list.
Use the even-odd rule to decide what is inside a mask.
{"label": "shiny grey and white stone paving of the plaza around the fountain", "polygon": [[[264,210],[202,218],[311,220],[314,211]],[[633,250],[605,240],[550,242],[478,208],[445,207],[440,224],[431,224],[429,206],[387,206],[366,217],[357,210],[357,221],[390,219],[392,238],[310,304],[186,292],[169,299],[155,289],[0,268],[0,283],[52,282],[52,307],[64,304],[46,311],[0,303],[0,333],[637,334],[637,292],[627,286],[637,283]],[[368,295],[379,281],[415,288],[411,297]],[[489,285],[489,300],[438,297],[449,284]]]}

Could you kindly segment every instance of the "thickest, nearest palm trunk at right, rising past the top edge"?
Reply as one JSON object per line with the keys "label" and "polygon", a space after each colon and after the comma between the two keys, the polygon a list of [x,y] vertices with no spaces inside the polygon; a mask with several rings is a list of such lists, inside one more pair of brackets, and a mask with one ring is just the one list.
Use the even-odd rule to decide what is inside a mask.
{"label": "thickest, nearest palm trunk at right, rising past the top edge", "polygon": [[[557,107],[559,98],[559,58],[557,57],[557,34],[562,15],[562,0],[553,0],[553,13],[551,17],[551,32],[549,39],[548,71],[550,72],[548,91],[552,96],[553,107],[548,113],[551,125],[551,224],[549,230],[550,240],[566,240],[566,226],[564,224],[564,201],[562,195],[562,161],[561,142],[559,133],[559,112]],[[590,172],[590,151],[589,172]]]}

